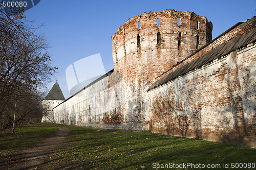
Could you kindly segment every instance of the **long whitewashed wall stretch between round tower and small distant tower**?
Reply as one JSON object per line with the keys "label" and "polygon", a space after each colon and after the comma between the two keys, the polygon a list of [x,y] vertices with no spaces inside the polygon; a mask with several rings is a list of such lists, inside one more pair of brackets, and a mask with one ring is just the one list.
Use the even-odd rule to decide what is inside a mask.
{"label": "long whitewashed wall stretch between round tower and small distant tower", "polygon": [[54,108],[54,121],[81,126],[108,124],[106,116],[111,119],[125,101],[124,90],[122,75],[113,73]]}

